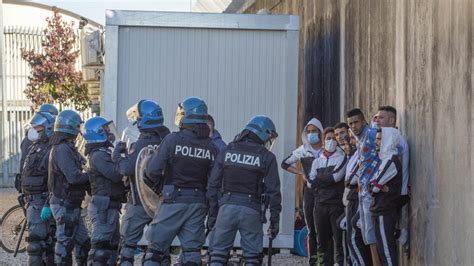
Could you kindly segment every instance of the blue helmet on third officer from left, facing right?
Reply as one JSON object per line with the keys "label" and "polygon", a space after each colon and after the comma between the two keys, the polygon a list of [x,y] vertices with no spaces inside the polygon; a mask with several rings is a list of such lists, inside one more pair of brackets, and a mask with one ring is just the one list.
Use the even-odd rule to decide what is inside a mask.
{"label": "blue helmet on third officer from left, facing right", "polygon": [[82,135],[86,144],[114,142],[117,139],[117,129],[113,121],[96,116],[86,121]]}

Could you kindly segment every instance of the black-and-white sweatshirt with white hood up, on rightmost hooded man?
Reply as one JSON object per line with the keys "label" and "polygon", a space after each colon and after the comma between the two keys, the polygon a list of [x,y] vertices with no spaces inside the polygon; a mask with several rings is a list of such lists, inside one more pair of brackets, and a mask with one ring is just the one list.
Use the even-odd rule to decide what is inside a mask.
{"label": "black-and-white sweatshirt with white hood up, on rightmost hooded man", "polygon": [[[373,216],[386,215],[400,205],[402,192],[402,164],[398,157],[397,146],[400,133],[396,128],[383,127],[379,158],[381,160],[377,173],[370,180],[374,201],[370,207]],[[374,190],[386,186],[388,191]]]}

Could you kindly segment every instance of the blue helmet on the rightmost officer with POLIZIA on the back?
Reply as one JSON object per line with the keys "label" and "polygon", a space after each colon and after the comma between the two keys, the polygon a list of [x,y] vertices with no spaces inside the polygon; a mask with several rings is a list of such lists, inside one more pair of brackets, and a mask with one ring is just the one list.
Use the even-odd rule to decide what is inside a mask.
{"label": "blue helmet on the rightmost officer with POLIZIA on the back", "polygon": [[271,150],[273,144],[275,144],[276,138],[278,137],[275,124],[273,124],[273,121],[269,117],[264,115],[256,115],[252,117],[245,126],[245,129],[257,135],[257,137],[263,141],[268,150]]}

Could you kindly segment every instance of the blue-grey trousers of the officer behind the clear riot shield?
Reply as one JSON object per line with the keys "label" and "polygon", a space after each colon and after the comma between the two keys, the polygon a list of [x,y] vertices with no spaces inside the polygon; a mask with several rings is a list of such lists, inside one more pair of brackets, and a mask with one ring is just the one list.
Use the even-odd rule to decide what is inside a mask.
{"label": "blue-grey trousers of the officer behind the clear riot shield", "polygon": [[133,265],[133,258],[137,249],[137,243],[143,236],[145,225],[152,221],[141,203],[134,205],[129,200],[125,206],[125,214],[120,226],[120,265]]}

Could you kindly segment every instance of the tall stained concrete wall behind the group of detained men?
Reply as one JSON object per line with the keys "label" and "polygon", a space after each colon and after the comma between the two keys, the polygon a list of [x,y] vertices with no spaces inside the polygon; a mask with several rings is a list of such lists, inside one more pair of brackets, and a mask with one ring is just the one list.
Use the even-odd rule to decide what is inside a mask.
{"label": "tall stained concrete wall behind the group of detained men", "polygon": [[[398,109],[411,150],[409,264],[474,265],[474,1],[257,0],[248,12],[260,8],[301,16],[300,115]],[[310,82],[331,108],[307,106]]]}

